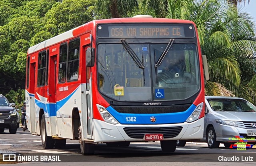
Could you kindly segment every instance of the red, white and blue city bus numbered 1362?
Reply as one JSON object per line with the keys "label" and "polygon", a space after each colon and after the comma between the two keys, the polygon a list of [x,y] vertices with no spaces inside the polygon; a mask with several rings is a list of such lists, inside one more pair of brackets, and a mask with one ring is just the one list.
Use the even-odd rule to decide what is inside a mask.
{"label": "red, white and blue city bus numbered 1362", "polygon": [[203,137],[203,59],[192,21],[90,21],[28,49],[28,129],[44,148],[79,140],[83,155],[140,141],[173,152]]}

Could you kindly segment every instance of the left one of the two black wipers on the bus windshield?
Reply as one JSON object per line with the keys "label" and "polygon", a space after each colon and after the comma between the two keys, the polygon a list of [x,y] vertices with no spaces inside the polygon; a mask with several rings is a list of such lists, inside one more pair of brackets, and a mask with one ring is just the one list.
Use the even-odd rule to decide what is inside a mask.
{"label": "left one of the two black wipers on the bus windshield", "polygon": [[145,66],[144,66],[144,64],[142,62],[142,61],[144,61],[144,59],[143,59],[143,52],[142,52],[142,61],[140,61],[139,57],[136,55],[136,53],[134,53],[134,51],[132,50],[130,45],[127,43],[126,39],[121,39],[121,42],[123,43],[125,51],[132,57],[132,60],[134,61],[136,66],[138,66],[138,68],[142,69],[143,79],[144,79],[144,86],[145,86],[146,85],[146,82],[145,82]]}

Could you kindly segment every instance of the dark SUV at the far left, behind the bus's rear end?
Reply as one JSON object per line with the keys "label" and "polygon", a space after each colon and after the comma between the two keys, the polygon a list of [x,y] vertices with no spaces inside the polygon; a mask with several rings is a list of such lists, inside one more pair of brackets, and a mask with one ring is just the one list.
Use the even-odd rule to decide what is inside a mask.
{"label": "dark SUV at the far left, behind the bus's rear end", "polygon": [[7,98],[0,94],[0,133],[9,129],[10,134],[16,134],[18,116],[14,107],[15,104],[10,104]]}

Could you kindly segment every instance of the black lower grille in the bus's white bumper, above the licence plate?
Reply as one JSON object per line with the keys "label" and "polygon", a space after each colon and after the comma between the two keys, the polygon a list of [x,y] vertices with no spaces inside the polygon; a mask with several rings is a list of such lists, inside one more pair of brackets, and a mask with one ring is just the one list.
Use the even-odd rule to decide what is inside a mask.
{"label": "black lower grille in the bus's white bumper, above the licence plate", "polygon": [[163,134],[164,139],[174,138],[180,134],[181,126],[176,127],[124,127],[125,133],[133,139],[143,139],[145,134]]}

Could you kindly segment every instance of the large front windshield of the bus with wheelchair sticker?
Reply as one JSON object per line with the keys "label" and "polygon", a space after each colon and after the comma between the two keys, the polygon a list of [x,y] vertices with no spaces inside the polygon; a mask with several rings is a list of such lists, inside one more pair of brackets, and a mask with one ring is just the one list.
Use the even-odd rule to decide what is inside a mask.
{"label": "large front windshield of the bus with wheelchair sticker", "polygon": [[200,88],[197,46],[174,43],[156,67],[167,45],[129,43],[144,66],[142,70],[122,43],[99,44],[100,92],[119,101],[182,100],[195,94]]}

